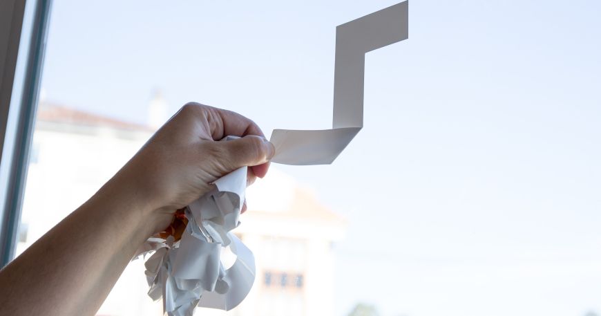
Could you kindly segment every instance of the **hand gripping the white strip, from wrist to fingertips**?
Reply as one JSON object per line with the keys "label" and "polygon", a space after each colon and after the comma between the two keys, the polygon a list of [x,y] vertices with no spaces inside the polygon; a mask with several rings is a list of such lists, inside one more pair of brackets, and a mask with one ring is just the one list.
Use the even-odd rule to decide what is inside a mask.
{"label": "hand gripping the white strip, from wrist to fingertips", "polygon": [[[218,142],[225,136],[238,140]],[[244,116],[198,103],[186,104],[111,180],[126,183],[146,198],[144,210],[163,230],[173,213],[209,192],[211,182],[242,166],[251,166],[247,185],[263,178],[275,149]],[[242,211],[246,208],[246,203]],[[144,215],[145,216],[145,215]]]}

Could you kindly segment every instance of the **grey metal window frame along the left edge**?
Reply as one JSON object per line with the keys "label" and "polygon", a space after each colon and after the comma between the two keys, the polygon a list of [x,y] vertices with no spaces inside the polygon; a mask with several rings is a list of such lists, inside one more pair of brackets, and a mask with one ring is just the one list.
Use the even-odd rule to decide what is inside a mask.
{"label": "grey metal window frame along the left edge", "polygon": [[0,3],[0,267],[15,256],[51,5]]}

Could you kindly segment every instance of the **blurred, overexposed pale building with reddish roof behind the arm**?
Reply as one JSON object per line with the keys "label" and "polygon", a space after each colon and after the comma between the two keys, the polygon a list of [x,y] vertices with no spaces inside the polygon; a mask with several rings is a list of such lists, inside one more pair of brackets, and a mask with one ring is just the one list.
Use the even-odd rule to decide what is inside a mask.
{"label": "blurred, overexposed pale building with reddish roof behind the arm", "polygon": [[[153,100],[148,126],[57,104],[39,106],[17,254],[84,203],[140,149],[158,126],[161,106],[163,101]],[[332,243],[343,238],[344,221],[276,168],[249,188],[247,198],[249,211],[235,232],[255,254],[254,287],[229,313],[197,314],[333,315]],[[143,262],[133,261],[98,315],[162,315],[162,304],[152,302],[147,290]]]}

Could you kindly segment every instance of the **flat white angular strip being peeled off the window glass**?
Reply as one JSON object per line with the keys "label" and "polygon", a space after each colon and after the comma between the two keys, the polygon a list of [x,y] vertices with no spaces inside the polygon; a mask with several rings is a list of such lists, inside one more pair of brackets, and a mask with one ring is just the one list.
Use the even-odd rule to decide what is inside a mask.
{"label": "flat white angular strip being peeled off the window glass", "polygon": [[408,1],[336,28],[332,129],[275,129],[273,162],[328,165],[363,127],[365,53],[408,38]]}

